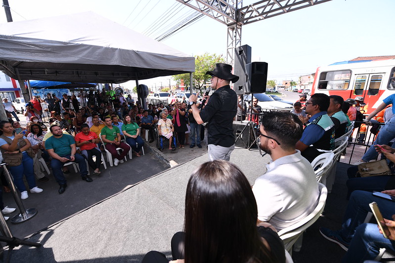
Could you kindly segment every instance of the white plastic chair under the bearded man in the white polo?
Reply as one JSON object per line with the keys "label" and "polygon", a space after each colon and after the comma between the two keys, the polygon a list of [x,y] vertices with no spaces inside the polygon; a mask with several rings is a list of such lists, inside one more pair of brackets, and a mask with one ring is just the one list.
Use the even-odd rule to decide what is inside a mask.
{"label": "white plastic chair under the bearded man in the white polo", "polygon": [[300,251],[300,249],[302,248],[303,232],[310,225],[314,224],[315,221],[317,221],[322,211],[324,210],[328,191],[326,187],[321,183],[318,183],[318,190],[319,190],[318,204],[315,207],[315,209],[309,215],[307,215],[307,217],[305,217],[298,223],[278,231],[279,237],[284,242],[285,250],[287,250],[291,256],[292,256],[293,245],[295,244],[294,250],[296,252]]}

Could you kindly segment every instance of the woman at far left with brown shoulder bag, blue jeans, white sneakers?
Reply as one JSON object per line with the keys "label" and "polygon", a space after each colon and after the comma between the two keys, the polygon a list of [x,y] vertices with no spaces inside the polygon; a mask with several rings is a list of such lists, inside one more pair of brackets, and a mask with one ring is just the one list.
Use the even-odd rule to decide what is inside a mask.
{"label": "woman at far left with brown shoulder bag, blue jeans, white sneakers", "polygon": [[22,133],[14,134],[14,127],[11,123],[0,121],[0,151],[14,178],[16,188],[21,192],[21,199],[29,197],[23,183],[23,175],[26,177],[30,192],[39,193],[43,191],[36,185],[33,159],[27,153],[31,146],[29,140]]}

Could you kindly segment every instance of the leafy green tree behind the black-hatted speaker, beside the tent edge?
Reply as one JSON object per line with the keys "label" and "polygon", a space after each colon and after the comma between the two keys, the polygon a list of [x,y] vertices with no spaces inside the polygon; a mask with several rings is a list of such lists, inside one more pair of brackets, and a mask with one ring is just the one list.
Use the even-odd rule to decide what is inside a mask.
{"label": "leafy green tree behind the black-hatted speaker, beside the tent edge", "polygon": [[[224,63],[225,59],[222,55],[204,53],[201,56],[195,56],[195,72],[193,73],[193,85],[195,89],[202,94],[203,85],[210,80],[211,76],[206,72],[213,70],[217,63]],[[189,73],[174,75],[173,79],[180,84],[181,79],[184,80],[185,86],[190,86]]]}

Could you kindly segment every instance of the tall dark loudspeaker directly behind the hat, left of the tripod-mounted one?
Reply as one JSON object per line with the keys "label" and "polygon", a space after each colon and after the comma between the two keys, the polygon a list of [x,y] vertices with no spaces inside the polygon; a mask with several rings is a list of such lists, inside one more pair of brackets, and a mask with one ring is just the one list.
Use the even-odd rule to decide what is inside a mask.
{"label": "tall dark loudspeaker directly behind the hat, left of the tripod-mounted one", "polygon": [[233,89],[239,94],[244,94],[247,81],[246,65],[251,63],[251,46],[243,45],[234,49],[234,75],[239,76],[239,80],[233,83]]}

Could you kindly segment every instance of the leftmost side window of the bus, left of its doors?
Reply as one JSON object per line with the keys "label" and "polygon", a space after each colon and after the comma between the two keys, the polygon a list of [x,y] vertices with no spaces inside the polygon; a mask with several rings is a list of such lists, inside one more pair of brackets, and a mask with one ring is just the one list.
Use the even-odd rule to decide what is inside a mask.
{"label": "leftmost side window of the bus, left of its doors", "polygon": [[348,89],[351,71],[322,72],[319,76],[318,89]]}

